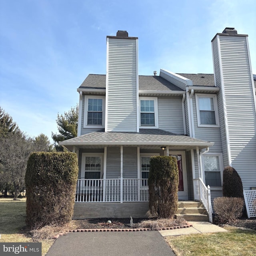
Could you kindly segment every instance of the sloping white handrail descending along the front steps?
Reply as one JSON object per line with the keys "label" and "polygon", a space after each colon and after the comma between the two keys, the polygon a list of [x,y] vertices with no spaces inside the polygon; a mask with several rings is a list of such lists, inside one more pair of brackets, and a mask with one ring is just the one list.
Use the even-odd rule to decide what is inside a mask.
{"label": "sloping white handrail descending along the front steps", "polygon": [[206,187],[201,178],[193,180],[194,185],[194,200],[202,202],[209,216],[209,222],[212,223],[212,203],[210,186]]}

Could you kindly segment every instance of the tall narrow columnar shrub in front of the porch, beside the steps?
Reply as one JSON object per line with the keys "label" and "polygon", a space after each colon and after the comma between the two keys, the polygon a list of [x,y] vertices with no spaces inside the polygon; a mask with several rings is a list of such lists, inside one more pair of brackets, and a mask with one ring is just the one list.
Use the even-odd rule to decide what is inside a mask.
{"label": "tall narrow columnar shrub in front of the porch, beside the steps", "polygon": [[148,174],[150,212],[173,218],[178,209],[179,172],[173,156],[153,156]]}

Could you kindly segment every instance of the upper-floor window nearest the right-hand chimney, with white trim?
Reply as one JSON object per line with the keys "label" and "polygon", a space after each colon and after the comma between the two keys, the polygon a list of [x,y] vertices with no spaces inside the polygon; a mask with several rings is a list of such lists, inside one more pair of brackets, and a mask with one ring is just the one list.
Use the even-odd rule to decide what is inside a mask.
{"label": "upper-floor window nearest the right-hand chimney, with white trim", "polygon": [[217,95],[196,94],[198,126],[219,126]]}

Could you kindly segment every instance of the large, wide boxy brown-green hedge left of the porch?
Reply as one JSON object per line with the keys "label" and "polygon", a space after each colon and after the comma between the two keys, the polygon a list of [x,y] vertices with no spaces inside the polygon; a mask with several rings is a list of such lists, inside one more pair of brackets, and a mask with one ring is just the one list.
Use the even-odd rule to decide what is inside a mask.
{"label": "large, wide boxy brown-green hedge left of the porch", "polygon": [[71,152],[35,152],[28,159],[26,223],[41,228],[72,220],[78,160]]}

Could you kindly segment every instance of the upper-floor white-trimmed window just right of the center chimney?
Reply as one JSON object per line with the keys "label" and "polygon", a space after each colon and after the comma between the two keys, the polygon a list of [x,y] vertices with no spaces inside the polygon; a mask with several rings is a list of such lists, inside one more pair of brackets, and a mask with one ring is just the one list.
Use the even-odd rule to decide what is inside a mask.
{"label": "upper-floor white-trimmed window just right of the center chimney", "polygon": [[140,127],[158,128],[157,98],[140,97]]}

